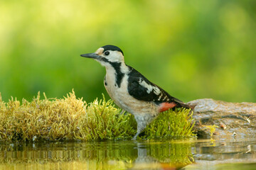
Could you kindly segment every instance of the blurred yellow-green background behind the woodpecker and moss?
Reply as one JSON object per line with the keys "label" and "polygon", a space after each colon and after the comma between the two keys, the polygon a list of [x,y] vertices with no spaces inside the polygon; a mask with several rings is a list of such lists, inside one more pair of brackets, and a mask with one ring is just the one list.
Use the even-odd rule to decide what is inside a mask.
{"label": "blurred yellow-green background behind the woodpecker and moss", "polygon": [[127,64],[182,101],[256,102],[256,1],[20,0],[0,5],[0,92],[72,89],[108,97],[105,68],[80,54],[117,45]]}

